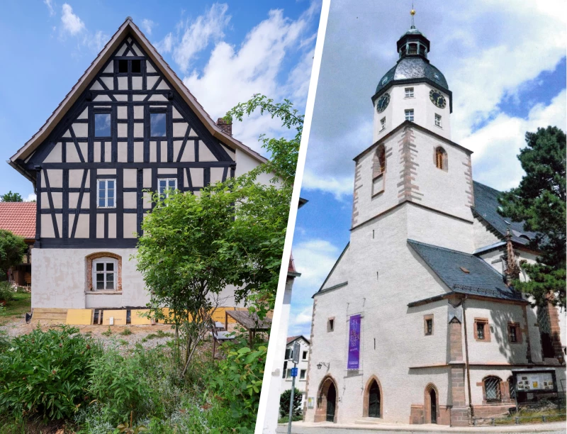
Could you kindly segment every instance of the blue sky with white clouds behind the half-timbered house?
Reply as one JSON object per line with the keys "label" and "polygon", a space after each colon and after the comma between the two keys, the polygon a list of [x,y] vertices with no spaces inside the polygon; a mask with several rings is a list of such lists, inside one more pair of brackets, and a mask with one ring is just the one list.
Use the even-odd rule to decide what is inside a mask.
{"label": "blue sky with white clouds behind the half-timbered house", "polygon": [[[216,118],[255,93],[289,98],[303,111],[319,13],[320,1],[310,0],[4,1],[0,194],[33,196],[32,184],[4,161],[38,131],[127,16]],[[258,116],[233,132],[256,150],[260,133],[282,133]]]}

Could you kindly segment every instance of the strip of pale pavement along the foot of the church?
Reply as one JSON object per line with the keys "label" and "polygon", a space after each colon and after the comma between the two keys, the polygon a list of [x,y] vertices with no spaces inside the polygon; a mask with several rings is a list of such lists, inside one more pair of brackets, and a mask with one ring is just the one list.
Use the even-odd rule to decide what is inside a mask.
{"label": "strip of pale pavement along the foot of the church", "polygon": [[[450,427],[447,425],[436,425],[427,423],[425,425],[410,425],[405,423],[371,423],[364,419],[357,423],[330,423],[330,422],[293,422],[291,424],[292,434],[303,433],[327,433],[339,434],[356,431],[357,434],[366,433],[566,433],[566,423],[537,423],[533,425],[497,425],[497,426],[467,426]],[[287,424],[279,424],[277,433],[287,433]]]}

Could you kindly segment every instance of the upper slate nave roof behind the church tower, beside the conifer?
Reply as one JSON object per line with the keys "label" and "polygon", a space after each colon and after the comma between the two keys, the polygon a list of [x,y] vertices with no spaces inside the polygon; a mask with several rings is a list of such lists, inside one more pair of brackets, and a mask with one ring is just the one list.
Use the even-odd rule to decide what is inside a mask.
{"label": "upper slate nave roof behind the church tower, beside the conifer", "polygon": [[[524,230],[524,223],[512,221],[500,216],[498,213],[498,196],[500,191],[473,181],[474,188],[474,206],[473,211],[483,218],[486,223],[492,226],[502,237],[505,237],[506,230],[510,227],[512,241],[522,245],[527,245],[529,239],[536,235],[533,232]],[[523,236],[522,236],[523,235]],[[526,238],[527,237],[527,238]],[[529,239],[528,239],[529,238]]]}

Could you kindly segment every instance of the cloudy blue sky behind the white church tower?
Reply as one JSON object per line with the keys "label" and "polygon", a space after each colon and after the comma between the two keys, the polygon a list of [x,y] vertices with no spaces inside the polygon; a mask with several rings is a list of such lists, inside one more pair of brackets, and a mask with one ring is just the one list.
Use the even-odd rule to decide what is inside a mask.
{"label": "cloudy blue sky behind the white church tower", "polygon": [[[349,241],[352,158],[372,144],[376,84],[395,65],[410,1],[332,0],[310,131],[293,255],[288,335],[310,335],[313,299]],[[524,133],[566,129],[566,3],[415,1],[430,61],[453,92],[452,140],[473,150],[473,178],[515,187]]]}

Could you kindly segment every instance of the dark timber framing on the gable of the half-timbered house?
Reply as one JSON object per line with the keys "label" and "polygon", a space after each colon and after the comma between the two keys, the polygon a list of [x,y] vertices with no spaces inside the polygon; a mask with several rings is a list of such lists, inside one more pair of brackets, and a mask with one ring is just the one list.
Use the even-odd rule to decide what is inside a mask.
{"label": "dark timber framing on the gable of the half-timbered house", "polygon": [[[131,38],[130,41],[128,41],[129,38]],[[123,43],[125,43],[127,49],[122,55],[118,56],[117,53],[123,50]],[[132,228],[132,231],[136,230],[137,233],[141,233],[144,213],[151,211],[149,204],[144,204],[143,190],[151,188],[155,191],[158,178],[177,179],[177,187],[180,191],[194,193],[210,183],[211,169],[213,168],[223,169],[223,181],[227,177],[235,177],[235,160],[230,157],[220,141],[208,131],[181,95],[174,90],[169,80],[159,72],[159,68],[143,52],[140,45],[137,43],[134,45],[135,38],[128,34],[123,43],[118,45],[113,56],[101,66],[99,74],[87,87],[87,89],[91,89],[96,84],[98,90],[84,91],[33,155],[26,162],[17,161],[19,166],[35,178],[38,196],[35,228],[36,247],[133,248],[136,246],[137,239],[124,238],[125,230],[130,231],[130,228],[124,228],[124,216],[135,214],[135,227]],[[129,53],[133,56],[128,56]],[[120,60],[128,61],[128,72],[118,72]],[[133,60],[141,61],[140,72],[133,72]],[[111,63],[113,72],[104,72]],[[148,72],[150,65],[153,72]],[[124,78],[121,77],[127,79],[126,86],[124,85]],[[133,77],[141,77],[142,89],[133,89]],[[155,77],[155,82],[151,87],[148,82],[154,80],[154,78],[150,77]],[[108,79],[111,79],[110,82],[108,82]],[[111,84],[113,84],[113,89],[118,89],[119,83],[120,90],[109,89]],[[164,89],[162,84],[167,84],[169,89]],[[137,107],[140,106],[143,107],[143,119],[135,118],[136,111],[140,110]],[[123,107],[126,109],[125,117],[124,112],[120,111],[122,117],[118,118],[119,108],[123,110]],[[85,110],[86,118],[78,119]],[[174,118],[174,110],[179,113],[181,118],[179,116]],[[110,136],[95,137],[95,113],[110,113]],[[165,137],[150,137],[150,113],[166,114]],[[181,136],[174,136],[174,125],[179,125],[181,122],[187,123],[188,126]],[[88,132],[87,137],[77,137],[78,127],[77,130],[74,130],[73,124],[85,125]],[[140,124],[142,124],[143,137],[135,137],[135,130],[139,128]],[[120,129],[118,126],[120,126]],[[124,126],[127,134],[125,137],[123,136],[124,133],[119,136],[119,130],[124,131]],[[67,130],[69,133],[65,134]],[[176,127],[175,130],[178,131],[179,128]],[[152,142],[156,143],[154,161],[152,161],[153,155],[150,155],[152,153],[150,152],[150,143]],[[181,143],[180,146],[179,142]],[[61,144],[60,162],[55,162],[56,160],[53,159],[49,160],[51,162],[45,162],[46,157],[52,155],[52,151],[58,143]],[[100,149],[95,149],[95,143],[100,143]],[[125,148],[123,148],[124,144]],[[224,145],[235,152],[232,146],[226,143]],[[71,147],[69,152],[73,154],[76,152],[77,156],[72,157],[67,152],[67,146]],[[213,161],[201,161],[199,159],[199,148],[203,149],[203,146],[210,151],[210,155],[213,155]],[[140,147],[138,151],[137,147]],[[181,161],[184,159],[184,153],[191,150],[189,147],[193,148],[193,161]],[[124,149],[125,154],[123,153]],[[162,159],[162,150],[165,161]],[[69,158],[71,161],[69,161]],[[140,158],[142,161],[135,161]],[[119,162],[118,160],[125,161]],[[100,173],[101,169],[106,170]],[[127,184],[128,187],[124,187],[126,169],[136,170],[135,187],[133,187],[133,184]],[[151,187],[148,180],[145,179],[147,174],[145,174],[144,169],[150,169]],[[162,174],[159,173],[159,169],[169,169],[169,172],[174,173]],[[203,185],[194,185],[191,169],[202,170]],[[70,171],[72,170],[80,171],[80,186],[77,176],[71,176]],[[61,186],[56,183],[57,187],[52,187],[53,179],[50,183],[50,176],[54,176],[52,174],[54,171],[58,172],[57,177],[61,176]],[[71,179],[74,180],[74,184],[71,184]],[[116,180],[114,208],[97,208],[97,182],[99,179]],[[201,184],[201,181],[198,181],[198,184]],[[136,194],[135,208],[131,208],[131,205],[128,208],[125,207],[125,194],[127,193]],[[45,208],[42,208],[42,194],[45,194],[43,198],[44,202],[45,198],[47,199],[48,208],[45,203],[43,204]],[[61,195],[61,208],[55,208],[54,194]],[[88,195],[88,203],[85,203],[85,194]],[[74,198],[73,200],[70,199],[71,196]],[[75,198],[77,198],[76,201]],[[47,214],[50,216],[47,216]],[[77,238],[79,217],[85,214],[89,215],[88,238]],[[110,238],[114,234],[110,225],[111,214],[116,216],[116,238]],[[98,220],[102,221],[103,226],[97,231],[97,223],[100,223],[97,222],[99,215],[101,217]],[[50,218],[53,225],[53,238],[43,238],[41,233],[42,218]],[[59,220],[59,223],[57,223],[57,220]]]}

